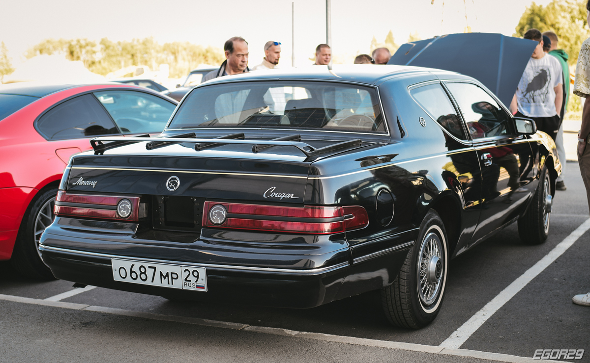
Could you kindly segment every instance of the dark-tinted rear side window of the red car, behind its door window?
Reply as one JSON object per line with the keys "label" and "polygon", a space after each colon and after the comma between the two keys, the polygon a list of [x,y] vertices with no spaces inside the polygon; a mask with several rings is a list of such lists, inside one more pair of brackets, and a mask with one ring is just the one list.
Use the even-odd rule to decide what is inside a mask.
{"label": "dark-tinted rear side window of the red car, behind its door window", "polygon": [[50,109],[37,121],[37,130],[50,140],[119,133],[104,108],[91,94],[78,96]]}

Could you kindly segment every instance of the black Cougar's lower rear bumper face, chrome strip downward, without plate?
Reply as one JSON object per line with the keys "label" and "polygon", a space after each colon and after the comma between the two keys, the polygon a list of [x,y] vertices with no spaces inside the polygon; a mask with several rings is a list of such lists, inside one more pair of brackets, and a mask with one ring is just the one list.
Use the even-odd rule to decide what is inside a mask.
{"label": "black Cougar's lower rear bumper face, chrome strip downward, without plate", "polygon": [[[80,253],[45,246],[41,246],[41,251],[43,260],[51,267],[55,277],[68,281],[166,298],[285,308],[312,308],[332,301],[348,269],[346,263],[327,268],[293,271],[172,262],[207,269],[208,291],[195,292],[114,281],[110,259],[129,259],[128,257]],[[171,263],[153,259],[132,259]]]}

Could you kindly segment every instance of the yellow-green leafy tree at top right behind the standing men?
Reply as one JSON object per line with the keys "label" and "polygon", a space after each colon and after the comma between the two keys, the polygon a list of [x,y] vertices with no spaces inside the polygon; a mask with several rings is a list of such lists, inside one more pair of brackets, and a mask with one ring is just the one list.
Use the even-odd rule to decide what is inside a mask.
{"label": "yellow-green leafy tree at top right behind the standing men", "polygon": [[558,48],[568,52],[568,63],[575,65],[582,42],[590,36],[586,25],[586,0],[553,0],[546,6],[533,2],[520,16],[513,36],[523,36],[531,28],[557,34]]}

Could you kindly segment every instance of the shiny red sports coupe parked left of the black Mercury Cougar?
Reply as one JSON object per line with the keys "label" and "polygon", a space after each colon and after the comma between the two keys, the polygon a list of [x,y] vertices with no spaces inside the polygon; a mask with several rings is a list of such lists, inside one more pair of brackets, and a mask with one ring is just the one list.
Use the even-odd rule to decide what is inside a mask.
{"label": "shiny red sports coupe parked left of the black Mercury Cougar", "polygon": [[[124,84],[0,85],[0,261],[51,279],[38,242],[71,155],[99,135],[159,134],[174,99]],[[84,182],[84,181],[80,181]]]}

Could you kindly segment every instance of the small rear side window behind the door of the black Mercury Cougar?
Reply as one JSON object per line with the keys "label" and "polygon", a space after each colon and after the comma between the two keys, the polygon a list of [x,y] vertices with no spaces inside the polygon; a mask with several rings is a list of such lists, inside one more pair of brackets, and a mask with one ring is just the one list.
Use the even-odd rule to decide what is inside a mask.
{"label": "small rear side window behind the door of the black Mercury Cougar", "polygon": [[414,88],[410,94],[422,108],[428,112],[428,115],[445,128],[451,135],[458,139],[466,140],[461,119],[457,116],[457,111],[448,99],[447,92],[442,89],[440,84],[431,84]]}

